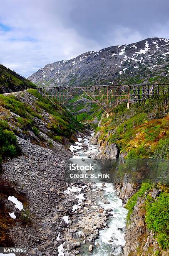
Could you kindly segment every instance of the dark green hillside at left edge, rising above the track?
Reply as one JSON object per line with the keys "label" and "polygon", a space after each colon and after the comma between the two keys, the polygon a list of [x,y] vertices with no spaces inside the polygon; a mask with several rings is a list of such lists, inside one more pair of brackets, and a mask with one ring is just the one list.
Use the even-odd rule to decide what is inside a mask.
{"label": "dark green hillside at left edge, rising above the track", "polygon": [[0,64],[0,93],[22,91],[30,87],[36,85]]}

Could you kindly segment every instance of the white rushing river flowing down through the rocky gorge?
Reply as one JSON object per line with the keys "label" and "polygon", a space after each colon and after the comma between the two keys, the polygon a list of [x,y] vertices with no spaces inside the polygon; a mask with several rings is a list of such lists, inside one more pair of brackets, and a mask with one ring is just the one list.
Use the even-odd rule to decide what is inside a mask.
{"label": "white rushing river flowing down through the rocky gorge", "polygon": [[[92,134],[92,136],[94,133]],[[79,159],[83,164],[85,159],[91,157],[96,158],[99,153],[97,146],[93,145],[91,136],[86,137],[83,141],[87,148],[82,148],[82,139],[78,138],[77,148],[73,159]],[[79,162],[79,163],[80,163]],[[102,182],[98,180],[96,186],[102,187]],[[124,233],[126,227],[127,210],[122,207],[122,200],[118,197],[117,192],[114,190],[114,185],[105,183],[103,187],[104,200],[108,200],[109,204],[104,204],[104,200],[98,200],[97,205],[101,205],[105,210],[111,210],[111,215],[108,220],[107,227],[99,230],[99,237],[95,240],[95,246],[92,251],[93,256],[120,256],[123,255],[123,247],[125,245]],[[80,254],[82,256],[89,255],[89,252]]]}

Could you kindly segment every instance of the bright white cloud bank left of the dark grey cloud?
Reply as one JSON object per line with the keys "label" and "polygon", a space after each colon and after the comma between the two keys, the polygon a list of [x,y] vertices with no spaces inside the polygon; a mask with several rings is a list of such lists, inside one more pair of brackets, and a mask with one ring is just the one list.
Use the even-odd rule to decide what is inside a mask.
{"label": "bright white cloud bank left of the dark grey cloud", "polygon": [[73,28],[63,26],[57,17],[59,10],[52,13],[50,3],[53,1],[17,0],[3,4],[0,23],[11,28],[0,30],[0,62],[6,67],[29,76],[50,62],[99,49],[96,42],[84,41]]}

